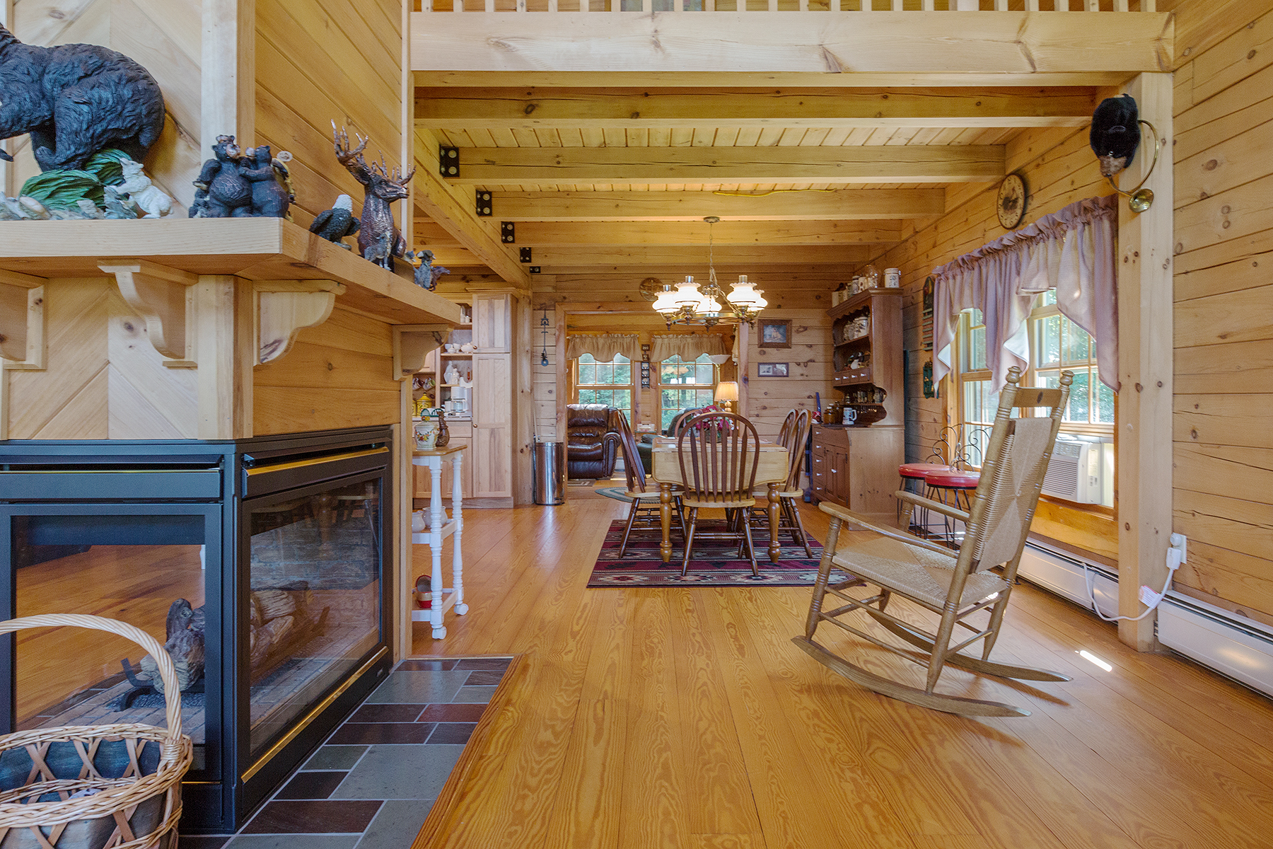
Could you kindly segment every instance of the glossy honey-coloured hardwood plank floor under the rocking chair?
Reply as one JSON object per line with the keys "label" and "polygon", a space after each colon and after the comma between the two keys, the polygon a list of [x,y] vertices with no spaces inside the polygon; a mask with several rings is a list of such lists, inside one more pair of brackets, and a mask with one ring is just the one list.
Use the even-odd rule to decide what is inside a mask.
{"label": "glossy honey-coloured hardwood plank floor under the rocking chair", "polygon": [[[444,640],[418,625],[414,650],[524,657],[439,838],[415,849],[1273,845],[1268,699],[1137,654],[1023,584],[995,656],[1074,680],[943,673],[945,691],[1034,712],[1021,719],[906,705],[789,643],[807,588],[587,589],[625,510],[580,498],[465,514],[470,612],[448,615]],[[826,516],[802,516],[825,538]],[[819,634],[919,682],[918,667]]]}

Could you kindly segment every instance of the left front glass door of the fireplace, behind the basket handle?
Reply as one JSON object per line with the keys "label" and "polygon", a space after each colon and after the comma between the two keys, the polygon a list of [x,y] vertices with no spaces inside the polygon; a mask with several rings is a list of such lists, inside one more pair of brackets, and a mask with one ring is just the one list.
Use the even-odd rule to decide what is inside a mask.
{"label": "left front glass door of the fireplace, behind the basket handle", "polygon": [[[220,509],[150,513],[102,505],[95,516],[53,505],[36,509],[10,514],[8,522],[14,614],[93,614],[165,643],[181,689],[183,731],[195,743],[192,770],[205,770],[209,678],[219,677],[220,617],[206,611],[209,586],[220,574]],[[28,629],[15,638],[15,729],[164,724],[158,667],[131,640],[76,628]]]}

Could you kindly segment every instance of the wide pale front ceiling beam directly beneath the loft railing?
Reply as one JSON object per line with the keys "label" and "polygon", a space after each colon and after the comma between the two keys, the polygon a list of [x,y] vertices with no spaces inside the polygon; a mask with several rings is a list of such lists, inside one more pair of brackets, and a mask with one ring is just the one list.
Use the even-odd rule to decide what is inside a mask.
{"label": "wide pale front ceiling beam directly beneath the loft railing", "polygon": [[410,61],[411,70],[647,74],[1170,71],[1172,23],[1146,11],[415,13]]}

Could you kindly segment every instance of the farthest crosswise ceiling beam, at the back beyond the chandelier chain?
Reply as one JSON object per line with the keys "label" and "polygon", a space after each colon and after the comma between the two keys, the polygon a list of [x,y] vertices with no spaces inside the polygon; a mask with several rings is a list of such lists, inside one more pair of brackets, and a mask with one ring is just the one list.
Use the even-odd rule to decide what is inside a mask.
{"label": "farthest crosswise ceiling beam, at the back beyond the chandelier chain", "polygon": [[[470,251],[446,244],[433,246],[416,243],[433,251],[433,261],[448,269],[470,269],[484,265]],[[742,247],[726,244],[713,251],[718,269],[726,266],[810,266],[845,265],[864,262],[877,248],[866,244],[770,244],[764,247]],[[708,265],[707,246],[614,246],[603,251],[596,247],[546,247],[532,248],[530,265],[536,265],[545,274],[570,274],[598,269],[614,271],[644,270],[647,274],[705,274]],[[523,266],[527,267],[527,266]],[[695,271],[696,269],[696,271]],[[747,274],[743,270],[741,274]]]}

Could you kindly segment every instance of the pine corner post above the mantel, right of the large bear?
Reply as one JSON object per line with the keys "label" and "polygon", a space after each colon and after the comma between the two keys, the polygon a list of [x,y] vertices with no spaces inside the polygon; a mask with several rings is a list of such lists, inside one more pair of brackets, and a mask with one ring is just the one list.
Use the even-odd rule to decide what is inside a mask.
{"label": "pine corner post above the mantel, right of the large bear", "polygon": [[250,146],[256,135],[256,0],[204,0],[202,46],[200,150],[210,157],[219,135]]}

